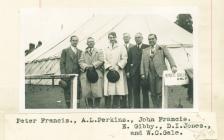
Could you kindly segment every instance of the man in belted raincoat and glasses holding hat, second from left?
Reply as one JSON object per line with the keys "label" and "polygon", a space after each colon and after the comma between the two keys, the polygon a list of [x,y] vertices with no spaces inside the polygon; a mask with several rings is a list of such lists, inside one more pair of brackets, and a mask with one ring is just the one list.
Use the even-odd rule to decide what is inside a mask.
{"label": "man in belted raincoat and glasses holding hat, second from left", "polygon": [[87,39],[87,48],[79,59],[81,67],[80,81],[82,99],[85,99],[87,107],[99,108],[100,99],[103,96],[103,52],[94,47],[95,40]]}

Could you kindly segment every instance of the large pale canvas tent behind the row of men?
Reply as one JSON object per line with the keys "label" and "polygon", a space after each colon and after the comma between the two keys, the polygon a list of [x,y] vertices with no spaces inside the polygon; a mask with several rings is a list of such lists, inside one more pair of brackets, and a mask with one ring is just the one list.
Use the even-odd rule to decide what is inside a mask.
{"label": "large pale canvas tent behind the row of men", "polygon": [[[95,15],[85,21],[70,35],[79,37],[78,48],[84,50],[86,39],[90,36],[96,40],[96,48],[103,49],[108,44],[107,35],[115,31],[118,43],[123,44],[122,34],[131,35],[134,44],[134,35],[143,34],[143,42],[148,44],[147,36],[155,33],[158,44],[169,48],[178,68],[192,68],[193,36],[178,25],[158,15]],[[52,46],[43,46],[25,57],[25,74],[60,74],[60,55],[64,48],[70,45],[70,35],[61,38]],[[26,81],[29,83],[29,81]],[[58,82],[55,82],[58,83]],[[50,85],[51,80],[32,80],[32,84]]]}

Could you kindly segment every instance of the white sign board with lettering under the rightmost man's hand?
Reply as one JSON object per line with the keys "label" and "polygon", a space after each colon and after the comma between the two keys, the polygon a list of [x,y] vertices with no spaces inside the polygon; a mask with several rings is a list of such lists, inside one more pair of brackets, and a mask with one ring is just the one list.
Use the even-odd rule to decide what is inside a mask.
{"label": "white sign board with lettering under the rightmost man's hand", "polygon": [[164,71],[163,80],[165,86],[185,85],[189,83],[189,79],[184,70],[178,70],[176,73]]}

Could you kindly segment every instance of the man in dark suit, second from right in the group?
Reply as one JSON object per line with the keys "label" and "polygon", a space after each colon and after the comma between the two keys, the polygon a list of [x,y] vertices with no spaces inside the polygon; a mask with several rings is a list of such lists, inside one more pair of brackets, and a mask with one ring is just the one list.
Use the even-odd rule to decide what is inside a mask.
{"label": "man in dark suit, second from right in the group", "polygon": [[[140,86],[141,86],[141,77],[140,77],[140,64],[142,58],[142,50],[148,48],[149,46],[142,43],[143,36],[141,33],[135,35],[136,45],[131,47],[128,51],[128,73],[127,76],[130,77],[132,86],[131,91],[134,95],[134,107],[140,108]],[[143,93],[143,107],[147,108],[149,106],[148,90],[145,87],[142,87]]]}

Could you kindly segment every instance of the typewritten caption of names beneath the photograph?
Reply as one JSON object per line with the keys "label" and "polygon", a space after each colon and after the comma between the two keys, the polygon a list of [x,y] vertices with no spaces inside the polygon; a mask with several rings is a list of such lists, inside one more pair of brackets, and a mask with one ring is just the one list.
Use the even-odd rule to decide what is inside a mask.
{"label": "typewritten caption of names beneath the photograph", "polygon": [[[202,121],[194,121],[188,117],[138,117],[128,119],[126,117],[82,117],[79,119],[71,118],[16,118],[16,124],[44,124],[44,125],[110,125],[119,126],[117,129],[127,132],[129,135],[183,135],[184,130],[191,131],[210,131],[211,126]],[[117,125],[119,124],[119,125]],[[116,127],[115,126],[115,127]]]}

